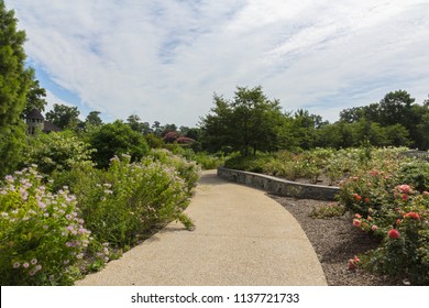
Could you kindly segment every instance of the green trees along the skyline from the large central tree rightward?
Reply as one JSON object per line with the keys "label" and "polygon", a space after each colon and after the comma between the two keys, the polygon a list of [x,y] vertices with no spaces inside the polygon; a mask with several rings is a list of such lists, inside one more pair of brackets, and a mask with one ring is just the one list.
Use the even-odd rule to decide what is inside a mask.
{"label": "green trees along the skyline from the large central tree rightward", "polygon": [[279,148],[374,146],[429,148],[429,100],[422,105],[405,90],[386,94],[377,103],[344,109],[334,123],[307,110],[283,112],[278,100],[268,100],[261,87],[238,87],[233,100],[213,96],[213,108],[201,118],[205,150],[256,151]]}

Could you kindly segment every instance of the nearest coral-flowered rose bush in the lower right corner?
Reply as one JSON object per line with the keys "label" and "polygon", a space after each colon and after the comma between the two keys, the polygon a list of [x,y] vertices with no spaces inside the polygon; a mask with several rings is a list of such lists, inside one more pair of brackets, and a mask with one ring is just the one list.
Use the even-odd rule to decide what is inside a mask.
{"label": "nearest coral-flowered rose bush in the lower right corner", "polygon": [[[373,272],[408,279],[414,285],[429,284],[429,193],[396,198],[396,208],[363,220],[383,237],[381,246],[361,257],[362,266]],[[371,223],[371,224],[370,224]],[[371,227],[370,227],[371,226]]]}

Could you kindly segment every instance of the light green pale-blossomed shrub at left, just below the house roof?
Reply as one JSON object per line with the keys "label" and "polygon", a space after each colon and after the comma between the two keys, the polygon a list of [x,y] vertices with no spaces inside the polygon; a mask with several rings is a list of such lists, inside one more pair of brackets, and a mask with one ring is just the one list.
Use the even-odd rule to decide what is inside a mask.
{"label": "light green pale-blossomed shrub at left, just below the house roof", "polygon": [[26,164],[36,164],[45,175],[69,170],[75,163],[90,161],[94,151],[72,132],[38,133],[29,136]]}

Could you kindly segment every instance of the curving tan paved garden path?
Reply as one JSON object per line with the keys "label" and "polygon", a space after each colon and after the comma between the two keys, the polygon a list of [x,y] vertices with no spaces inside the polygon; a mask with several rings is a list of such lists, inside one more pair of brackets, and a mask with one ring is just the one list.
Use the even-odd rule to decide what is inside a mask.
{"label": "curving tan paved garden path", "polygon": [[298,222],[263,191],[205,172],[186,212],[196,230],[173,222],[76,285],[327,285]]}

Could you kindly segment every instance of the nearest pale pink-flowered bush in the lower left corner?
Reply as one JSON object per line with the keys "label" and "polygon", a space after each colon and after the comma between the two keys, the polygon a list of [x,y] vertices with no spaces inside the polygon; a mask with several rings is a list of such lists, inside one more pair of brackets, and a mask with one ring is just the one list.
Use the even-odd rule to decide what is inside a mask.
{"label": "nearest pale pink-flowered bush in the lower left corner", "polygon": [[52,194],[33,168],[0,188],[1,285],[70,285],[89,243],[76,198]]}

